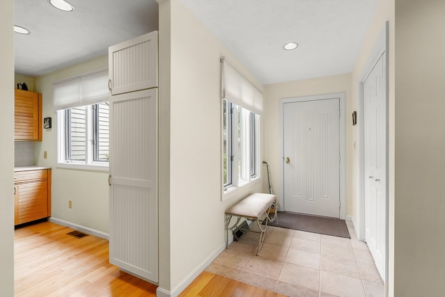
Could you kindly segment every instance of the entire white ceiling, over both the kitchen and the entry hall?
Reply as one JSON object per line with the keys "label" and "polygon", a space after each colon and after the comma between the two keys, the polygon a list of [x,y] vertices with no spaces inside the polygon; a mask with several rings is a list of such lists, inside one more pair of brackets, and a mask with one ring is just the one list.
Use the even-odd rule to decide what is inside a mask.
{"label": "entire white ceiling, over both the kitchen and the entry hall", "polygon": [[[179,0],[172,0],[179,1]],[[263,84],[352,72],[377,0],[181,0]],[[15,71],[35,77],[158,29],[155,0],[15,0]],[[285,51],[286,42],[299,46]]]}

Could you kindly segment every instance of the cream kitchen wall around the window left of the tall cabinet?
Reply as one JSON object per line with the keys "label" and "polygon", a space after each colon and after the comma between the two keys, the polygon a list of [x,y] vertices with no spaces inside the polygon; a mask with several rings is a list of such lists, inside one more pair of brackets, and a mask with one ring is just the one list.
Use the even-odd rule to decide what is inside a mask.
{"label": "cream kitchen wall around the window left of the tall cabinet", "polygon": [[[108,234],[108,171],[56,167],[56,113],[52,109],[53,81],[103,67],[108,67],[108,55],[35,77],[34,90],[42,93],[42,117],[51,117],[53,125],[43,129],[42,142],[34,144],[34,159],[36,165],[52,168],[51,216]],[[68,200],[72,200],[72,209]]]}

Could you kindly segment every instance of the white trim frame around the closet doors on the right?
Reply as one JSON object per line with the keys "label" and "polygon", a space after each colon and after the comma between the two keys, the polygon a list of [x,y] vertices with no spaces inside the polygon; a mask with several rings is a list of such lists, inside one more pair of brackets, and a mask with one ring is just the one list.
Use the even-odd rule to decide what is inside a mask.
{"label": "white trim frame around the closet doors on the right", "polygon": [[389,227],[389,41],[388,41],[388,33],[389,33],[389,23],[386,22],[384,28],[380,32],[378,40],[375,42],[375,46],[373,51],[369,55],[368,62],[366,63],[366,67],[364,67],[365,71],[362,74],[362,77],[359,80],[359,110],[357,122],[359,126],[359,199],[358,199],[358,207],[359,207],[359,217],[358,217],[358,226],[354,226],[357,231],[357,239],[364,241],[365,239],[365,193],[364,193],[364,81],[371,74],[373,67],[379,61],[382,55],[385,55],[385,120],[386,120],[386,176],[385,176],[385,287],[387,289],[388,284],[388,255],[389,255],[389,236],[388,236],[388,227]]}

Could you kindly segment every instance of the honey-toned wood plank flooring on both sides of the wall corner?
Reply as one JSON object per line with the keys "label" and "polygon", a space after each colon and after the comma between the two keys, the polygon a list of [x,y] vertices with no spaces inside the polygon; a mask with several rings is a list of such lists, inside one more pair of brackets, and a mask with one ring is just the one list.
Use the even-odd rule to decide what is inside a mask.
{"label": "honey-toned wood plank flooring on both sides of the wall corner", "polygon": [[[156,286],[108,263],[108,241],[76,239],[44,222],[15,230],[15,296],[156,296]],[[204,271],[180,296],[283,295]]]}

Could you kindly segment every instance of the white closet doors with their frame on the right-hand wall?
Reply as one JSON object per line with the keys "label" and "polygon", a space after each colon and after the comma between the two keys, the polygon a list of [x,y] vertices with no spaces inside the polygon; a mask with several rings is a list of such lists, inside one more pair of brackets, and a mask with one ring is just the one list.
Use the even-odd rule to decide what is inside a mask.
{"label": "white closet doors with their frame on the right-hand wall", "polygon": [[387,284],[388,255],[388,24],[359,82],[359,228]]}

